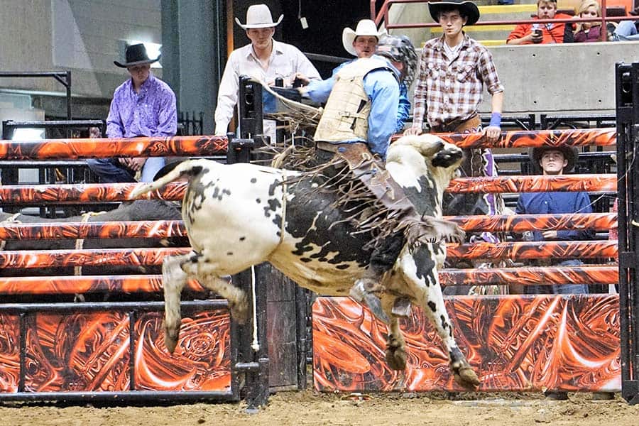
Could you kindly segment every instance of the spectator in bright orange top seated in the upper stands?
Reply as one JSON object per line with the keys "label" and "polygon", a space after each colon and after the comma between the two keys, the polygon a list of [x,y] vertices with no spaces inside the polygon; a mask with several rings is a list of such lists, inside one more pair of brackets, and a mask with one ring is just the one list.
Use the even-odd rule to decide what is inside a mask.
{"label": "spectator in bright orange top seated in the upper stands", "polygon": [[[557,0],[537,0],[537,16],[533,19],[569,19],[571,16],[557,13]],[[520,23],[506,38],[506,43],[547,44],[572,43],[572,24]]]}

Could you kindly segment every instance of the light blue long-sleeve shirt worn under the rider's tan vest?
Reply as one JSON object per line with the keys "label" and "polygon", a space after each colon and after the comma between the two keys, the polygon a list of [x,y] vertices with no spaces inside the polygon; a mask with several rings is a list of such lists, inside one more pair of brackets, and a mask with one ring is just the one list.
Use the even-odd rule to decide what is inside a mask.
{"label": "light blue long-sleeve shirt worn under the rider's tan vest", "polygon": [[[386,59],[379,56],[373,56],[373,58],[386,61],[386,66],[393,70],[395,75],[386,69],[379,69],[368,72],[364,76],[364,92],[371,101],[371,113],[368,115],[368,141],[354,139],[344,142],[366,142],[371,152],[386,159],[391,136],[397,129],[397,114],[388,114],[388,111],[398,111],[399,72]],[[326,102],[334,84],[333,76],[327,80],[312,80],[306,87],[306,96],[313,102]]]}

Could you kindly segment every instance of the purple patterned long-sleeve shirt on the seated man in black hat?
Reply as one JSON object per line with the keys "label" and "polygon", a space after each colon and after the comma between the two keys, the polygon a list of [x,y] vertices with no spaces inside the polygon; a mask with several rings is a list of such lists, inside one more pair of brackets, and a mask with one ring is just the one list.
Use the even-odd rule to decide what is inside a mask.
{"label": "purple patterned long-sleeve shirt on the seated man in black hat", "polygon": [[162,80],[149,74],[140,93],[133,90],[131,79],[115,90],[107,117],[107,137],[175,136],[177,131],[175,94]]}

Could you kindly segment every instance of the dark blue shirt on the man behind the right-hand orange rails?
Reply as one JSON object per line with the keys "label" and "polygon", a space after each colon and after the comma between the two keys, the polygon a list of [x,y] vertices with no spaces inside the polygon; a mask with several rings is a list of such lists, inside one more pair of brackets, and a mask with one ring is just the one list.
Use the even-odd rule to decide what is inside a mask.
{"label": "dark blue shirt on the man behind the right-hand orange rails", "polygon": [[[592,213],[587,192],[526,192],[519,196],[516,214]],[[541,231],[532,232],[533,241],[544,241]],[[589,240],[593,231],[564,229],[557,231],[558,240]]]}

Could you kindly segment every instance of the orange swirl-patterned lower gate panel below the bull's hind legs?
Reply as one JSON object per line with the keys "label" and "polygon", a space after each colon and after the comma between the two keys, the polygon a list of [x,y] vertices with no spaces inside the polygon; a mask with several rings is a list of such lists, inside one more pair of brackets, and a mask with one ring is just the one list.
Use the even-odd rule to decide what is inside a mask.
{"label": "orange swirl-patterned lower gate panel below the bull's hind legs", "polygon": [[[134,388],[229,391],[228,311],[199,312],[184,318],[173,356],[165,349],[161,323],[161,312],[140,313],[135,318]],[[25,391],[129,391],[129,324],[129,315],[121,312],[28,315]],[[3,370],[3,374],[11,372]]]}

